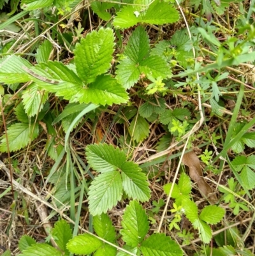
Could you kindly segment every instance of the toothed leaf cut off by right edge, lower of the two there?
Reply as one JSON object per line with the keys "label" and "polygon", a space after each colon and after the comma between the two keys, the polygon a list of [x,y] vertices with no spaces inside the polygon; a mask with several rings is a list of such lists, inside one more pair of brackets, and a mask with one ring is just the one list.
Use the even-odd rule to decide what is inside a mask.
{"label": "toothed leaf cut off by right edge, lower of the two there", "polygon": [[238,172],[241,172],[240,177],[247,189],[255,188],[255,155],[237,156],[232,164]]}

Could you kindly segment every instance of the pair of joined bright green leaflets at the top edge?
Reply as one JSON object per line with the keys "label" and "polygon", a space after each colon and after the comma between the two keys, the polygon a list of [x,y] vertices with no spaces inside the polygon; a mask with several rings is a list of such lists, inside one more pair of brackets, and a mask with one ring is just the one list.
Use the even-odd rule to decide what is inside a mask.
{"label": "pair of joined bright green leaflets at the top edge", "polygon": [[[133,3],[141,4],[141,1],[135,0]],[[167,2],[155,0],[149,6],[125,6],[117,13],[113,20],[113,26],[118,29],[125,29],[140,22],[163,25],[177,20],[179,20],[179,13],[173,6]]]}

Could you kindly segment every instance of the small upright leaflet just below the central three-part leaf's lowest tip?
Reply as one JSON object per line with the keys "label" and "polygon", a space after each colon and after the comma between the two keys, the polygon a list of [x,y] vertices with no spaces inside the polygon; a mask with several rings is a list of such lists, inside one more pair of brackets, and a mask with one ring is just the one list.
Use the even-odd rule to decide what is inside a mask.
{"label": "small upright leaflet just below the central three-part leaf's lowest tip", "polygon": [[[105,213],[101,215],[94,216],[93,227],[99,237],[106,239],[107,241],[113,243],[115,241],[115,229],[112,225],[112,221]],[[112,246],[111,246],[112,247]]]}

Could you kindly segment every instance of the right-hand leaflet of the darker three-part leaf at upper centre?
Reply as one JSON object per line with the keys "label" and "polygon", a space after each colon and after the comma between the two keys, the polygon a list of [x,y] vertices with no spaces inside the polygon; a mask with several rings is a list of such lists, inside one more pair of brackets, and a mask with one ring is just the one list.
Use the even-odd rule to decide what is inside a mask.
{"label": "right-hand leaflet of the darker three-part leaf at upper centre", "polygon": [[168,63],[161,56],[152,55],[144,59],[140,63],[140,72],[144,73],[147,77],[161,77],[165,79],[171,76],[171,70]]}

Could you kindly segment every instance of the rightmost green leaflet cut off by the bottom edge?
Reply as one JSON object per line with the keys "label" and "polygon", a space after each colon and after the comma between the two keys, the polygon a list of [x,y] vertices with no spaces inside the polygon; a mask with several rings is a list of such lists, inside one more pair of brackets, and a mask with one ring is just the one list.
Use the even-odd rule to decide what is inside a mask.
{"label": "rightmost green leaflet cut off by the bottom edge", "polygon": [[143,256],[181,256],[182,250],[165,234],[152,234],[141,245]]}

